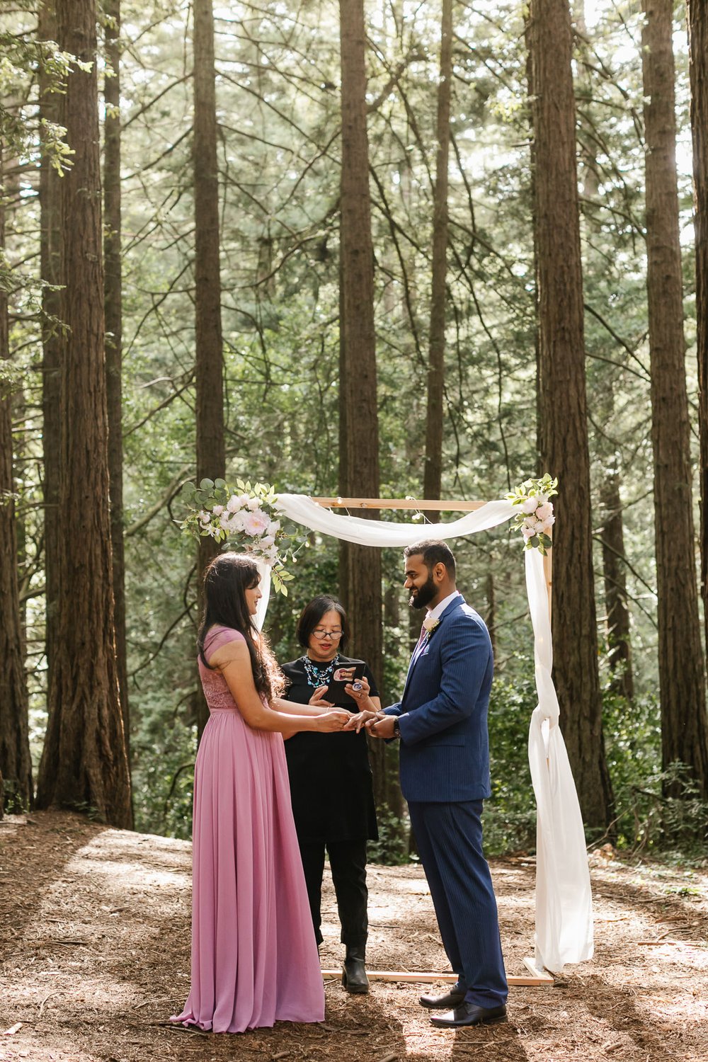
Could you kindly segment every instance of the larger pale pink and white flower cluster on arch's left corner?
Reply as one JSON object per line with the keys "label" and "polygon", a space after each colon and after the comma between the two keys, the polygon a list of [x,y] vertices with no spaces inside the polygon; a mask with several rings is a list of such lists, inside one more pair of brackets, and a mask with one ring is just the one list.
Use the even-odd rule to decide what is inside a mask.
{"label": "larger pale pink and white flower cluster on arch's left corner", "polygon": [[179,525],[183,533],[197,541],[209,536],[267,564],[273,588],[287,596],[286,583],[295,577],[286,564],[294,562],[294,554],[274,487],[237,479],[234,490],[224,479],[203,479],[198,486],[186,483],[184,491],[188,515]]}

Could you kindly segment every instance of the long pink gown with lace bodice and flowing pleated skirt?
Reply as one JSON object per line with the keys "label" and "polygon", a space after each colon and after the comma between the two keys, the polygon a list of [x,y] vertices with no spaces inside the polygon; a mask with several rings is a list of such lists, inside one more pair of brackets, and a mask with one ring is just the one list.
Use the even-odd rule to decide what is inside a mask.
{"label": "long pink gown with lace bodice and flowing pleated skirt", "polygon": [[[205,656],[237,638],[211,628]],[[221,672],[198,667],[209,719],[194,767],[192,982],[172,1021],[213,1032],[322,1022],[282,737],[251,730]]]}

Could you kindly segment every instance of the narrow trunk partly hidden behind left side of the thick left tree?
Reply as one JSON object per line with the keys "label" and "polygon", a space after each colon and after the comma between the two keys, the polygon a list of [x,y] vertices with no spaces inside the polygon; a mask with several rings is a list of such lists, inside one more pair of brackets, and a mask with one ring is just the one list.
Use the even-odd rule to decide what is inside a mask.
{"label": "narrow trunk partly hidden behind left side of the thick left tree", "polygon": [[[54,3],[39,6],[37,36],[40,40],[56,40]],[[48,122],[64,123],[64,97],[49,90],[49,79],[39,71],[39,114]],[[59,596],[59,467],[62,453],[61,426],[61,365],[62,336],[61,293],[57,290],[62,269],[62,177],[46,155],[39,165],[40,239],[39,259],[41,279],[51,285],[41,291],[44,312],[41,346],[41,411],[42,462],[45,501],[45,646],[47,655],[47,690],[54,670],[56,623]],[[55,290],[52,290],[55,289]]]}

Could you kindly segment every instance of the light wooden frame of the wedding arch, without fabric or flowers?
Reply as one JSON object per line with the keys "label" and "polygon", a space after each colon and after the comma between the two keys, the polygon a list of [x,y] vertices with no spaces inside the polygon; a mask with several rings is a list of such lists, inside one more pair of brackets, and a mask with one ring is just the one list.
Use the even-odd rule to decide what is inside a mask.
{"label": "light wooden frame of the wedding arch, without fabric or flowers", "polygon": [[[449,500],[434,500],[428,501],[425,498],[312,498],[318,506],[324,509],[409,509],[415,512],[461,512],[461,513],[471,513],[478,509],[482,509],[486,506],[486,501],[449,501]],[[425,527],[435,527],[435,525],[421,525],[421,531]],[[546,588],[548,592],[548,613],[549,620],[551,618],[551,601],[552,601],[552,560],[551,553],[547,553],[543,556],[543,575],[546,577]],[[534,960],[529,958],[523,960],[524,965],[528,967],[531,976],[528,977],[506,977],[508,984],[519,984],[519,986],[550,986],[553,984],[554,978],[551,974],[546,971],[538,970],[534,964]],[[323,970],[322,975],[326,978],[339,978],[341,976],[340,970]],[[452,983],[456,981],[456,974],[439,974],[435,972],[427,973],[412,973],[411,971],[396,971],[396,970],[380,970],[372,971],[367,970],[367,975],[369,980],[379,981],[410,981],[413,983]]]}

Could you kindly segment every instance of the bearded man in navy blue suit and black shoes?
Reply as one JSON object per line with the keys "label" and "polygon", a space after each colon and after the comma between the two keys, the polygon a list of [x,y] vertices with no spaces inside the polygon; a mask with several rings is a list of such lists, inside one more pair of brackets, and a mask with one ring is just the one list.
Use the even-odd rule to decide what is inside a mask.
{"label": "bearded man in navy blue suit and black shoes", "polygon": [[506,976],[497,901],[482,852],[482,801],[490,795],[487,705],[494,670],[482,618],[455,588],[454,556],[444,542],[408,546],[405,588],[427,610],[403,696],[366,724],[400,739],[400,782],[457,981],[442,996],[433,1025],[454,1028],[506,1021]]}

